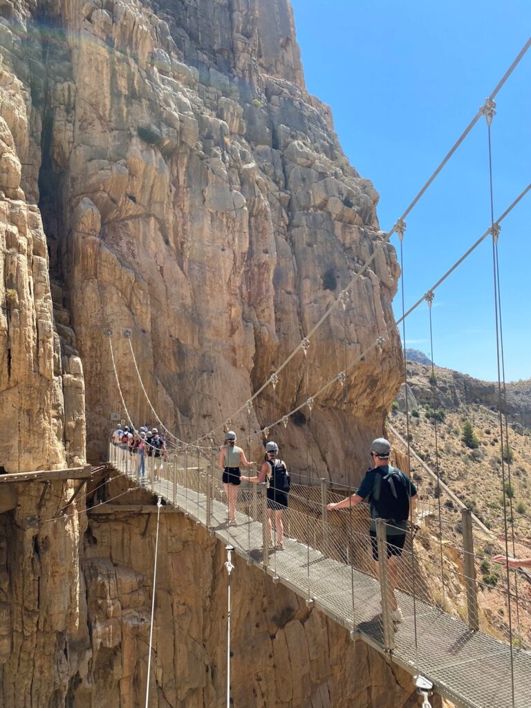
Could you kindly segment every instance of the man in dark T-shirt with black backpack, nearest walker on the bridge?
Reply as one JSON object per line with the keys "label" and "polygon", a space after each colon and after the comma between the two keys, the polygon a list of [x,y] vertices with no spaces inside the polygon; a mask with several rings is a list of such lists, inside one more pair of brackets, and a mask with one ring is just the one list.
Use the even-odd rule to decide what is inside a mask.
{"label": "man in dark T-shirt with black backpack, nearest walker on the bridge", "polygon": [[366,497],[370,505],[370,539],[372,557],[375,559],[376,573],[379,575],[378,544],[376,540],[376,519],[385,519],[387,536],[387,558],[389,559],[389,586],[391,595],[392,618],[401,622],[402,611],[396,602],[396,571],[398,559],[402,554],[406,540],[407,520],[410,501],[414,506],[418,499],[416,486],[404,472],[389,464],[391,443],[385,438],[372,441],[371,456],[375,467],[362,479],[358,491],[341,501],[328,505],[330,510],[356,506]]}

